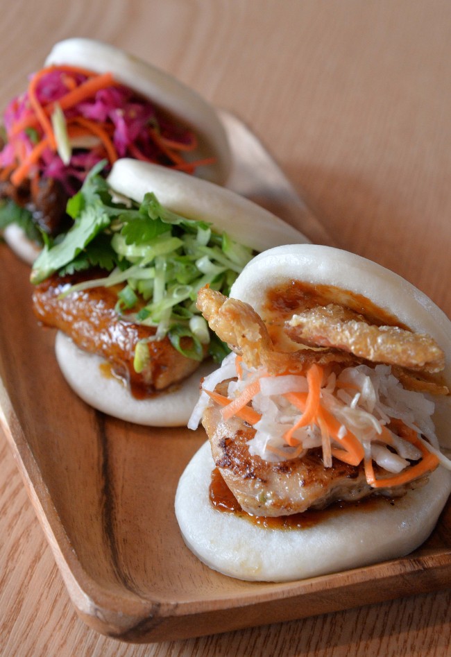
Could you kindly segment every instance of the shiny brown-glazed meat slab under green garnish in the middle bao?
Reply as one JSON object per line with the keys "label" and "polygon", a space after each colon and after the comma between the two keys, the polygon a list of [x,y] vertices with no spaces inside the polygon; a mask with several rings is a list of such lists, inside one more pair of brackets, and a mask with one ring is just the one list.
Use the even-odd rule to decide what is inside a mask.
{"label": "shiny brown-glazed meat slab under green garnish in the middle bao", "polygon": [[[59,298],[68,285],[80,280],[80,275],[53,275],[35,287],[33,310],[42,324],[61,330],[81,349],[103,356],[139,396],[166,389],[198,368],[197,361],[180,354],[165,337],[148,342],[150,361],[141,373],[135,372],[136,344],[153,336],[155,329],[129,322],[126,316],[118,317],[114,310],[117,294],[112,288],[97,287]],[[182,346],[184,340],[189,341],[182,338]]]}

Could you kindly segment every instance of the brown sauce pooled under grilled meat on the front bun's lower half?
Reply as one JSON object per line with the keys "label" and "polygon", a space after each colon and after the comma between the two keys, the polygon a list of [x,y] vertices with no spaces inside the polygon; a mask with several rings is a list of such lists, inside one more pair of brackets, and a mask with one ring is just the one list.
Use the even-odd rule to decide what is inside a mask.
{"label": "brown sauce pooled under grilled meat on the front bun's lower half", "polygon": [[334,502],[327,506],[327,509],[307,509],[303,513],[293,513],[291,515],[264,516],[251,515],[241,509],[237,498],[233,495],[230,488],[224,481],[218,468],[212,471],[210,482],[210,503],[222,513],[234,513],[238,518],[244,518],[248,522],[263,527],[264,529],[308,529],[319,524],[325,518],[330,518],[341,511],[341,509],[359,509],[359,511],[373,511],[380,506],[390,504],[393,506],[395,500],[391,497],[382,495],[365,497],[363,500],[356,502]]}

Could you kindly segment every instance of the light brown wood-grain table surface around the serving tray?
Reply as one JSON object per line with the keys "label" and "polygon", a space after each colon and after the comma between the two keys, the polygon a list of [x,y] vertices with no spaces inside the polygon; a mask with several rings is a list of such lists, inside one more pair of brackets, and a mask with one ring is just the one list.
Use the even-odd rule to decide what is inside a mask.
{"label": "light brown wood-grain table surface around the serving tray", "polygon": [[[69,36],[124,47],[238,114],[338,246],[451,315],[447,0],[3,1],[2,107]],[[78,619],[3,436],[0,502],[2,655],[450,654],[450,591],[186,641],[105,638]]]}

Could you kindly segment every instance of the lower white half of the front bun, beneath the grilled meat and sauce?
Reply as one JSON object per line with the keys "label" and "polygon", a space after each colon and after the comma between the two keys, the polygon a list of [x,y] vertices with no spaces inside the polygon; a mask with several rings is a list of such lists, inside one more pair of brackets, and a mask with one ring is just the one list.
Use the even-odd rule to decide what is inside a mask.
{"label": "lower white half of the front bun, beneath the grilled meat and sauce", "polygon": [[434,529],[451,490],[451,473],[435,470],[426,486],[394,506],[380,504],[325,514],[306,529],[263,529],[210,503],[214,468],[204,443],[180,477],[176,516],[189,549],[213,570],[255,581],[291,581],[404,556]]}

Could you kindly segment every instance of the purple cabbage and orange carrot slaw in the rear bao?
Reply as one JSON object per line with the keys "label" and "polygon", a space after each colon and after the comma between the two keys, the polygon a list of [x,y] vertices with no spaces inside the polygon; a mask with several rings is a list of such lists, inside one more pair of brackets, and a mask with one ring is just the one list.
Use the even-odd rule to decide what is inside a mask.
{"label": "purple cabbage and orange carrot slaw in the rear bao", "polygon": [[186,153],[196,135],[177,126],[148,100],[120,85],[111,73],[69,65],[33,74],[24,94],[3,117],[6,145],[1,178],[14,185],[41,175],[75,193],[96,162],[108,169],[118,157],[134,157],[193,172]]}

